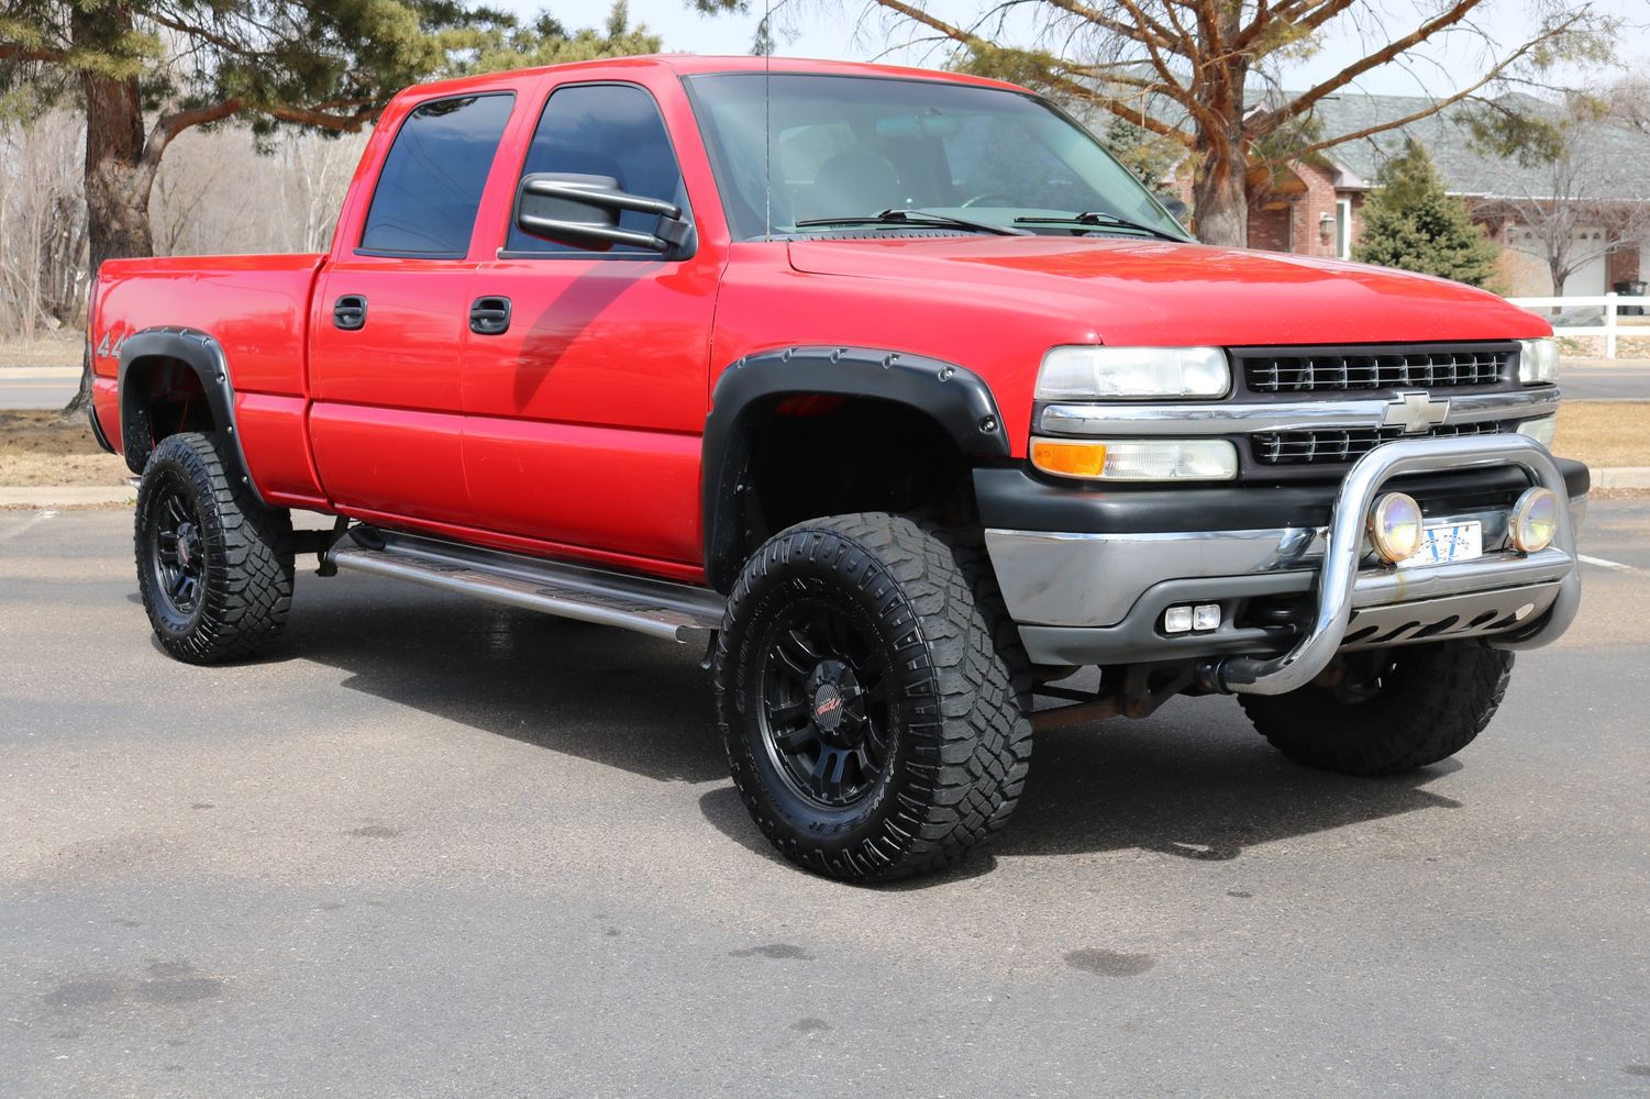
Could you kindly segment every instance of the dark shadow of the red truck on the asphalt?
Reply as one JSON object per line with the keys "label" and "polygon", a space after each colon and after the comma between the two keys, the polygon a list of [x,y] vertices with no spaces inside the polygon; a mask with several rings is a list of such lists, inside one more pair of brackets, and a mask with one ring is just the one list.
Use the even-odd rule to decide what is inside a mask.
{"label": "dark shadow of the red truck on the asphalt", "polygon": [[[393,581],[355,581],[304,599],[276,658],[323,663],[343,672],[350,690],[648,779],[716,782],[700,799],[705,818],[777,858],[728,785],[701,655]],[[1236,701],[1175,700],[1145,721],[1040,734],[1025,797],[990,850],[1010,858],[1147,850],[1224,861],[1261,843],[1459,809],[1426,789],[1457,769],[1445,761],[1396,779],[1308,771],[1267,746]],[[959,873],[988,868],[980,858]]]}

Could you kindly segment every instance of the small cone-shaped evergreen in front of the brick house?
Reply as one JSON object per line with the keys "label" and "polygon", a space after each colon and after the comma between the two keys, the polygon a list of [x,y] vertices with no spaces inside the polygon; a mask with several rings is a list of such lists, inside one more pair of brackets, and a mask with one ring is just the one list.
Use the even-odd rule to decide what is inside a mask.
{"label": "small cone-shaped evergreen in front of the brick house", "polygon": [[1497,248],[1472,221],[1467,203],[1444,190],[1432,157],[1416,140],[1376,177],[1363,205],[1363,236],[1353,259],[1485,285]]}

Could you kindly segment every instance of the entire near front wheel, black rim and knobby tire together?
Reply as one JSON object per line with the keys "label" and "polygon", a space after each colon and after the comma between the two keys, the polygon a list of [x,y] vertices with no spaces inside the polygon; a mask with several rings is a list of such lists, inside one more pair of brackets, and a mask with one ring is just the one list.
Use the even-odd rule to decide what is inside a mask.
{"label": "entire near front wheel, black rim and knobby tire together", "polygon": [[1020,799],[1023,668],[978,550],[894,515],[794,526],[746,563],[718,639],[734,785],[817,873],[949,866]]}

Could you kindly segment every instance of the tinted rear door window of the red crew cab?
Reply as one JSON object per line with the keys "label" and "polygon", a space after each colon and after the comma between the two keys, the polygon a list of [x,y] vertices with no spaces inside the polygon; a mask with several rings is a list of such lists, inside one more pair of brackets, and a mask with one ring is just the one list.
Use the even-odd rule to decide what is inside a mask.
{"label": "tinted rear door window of the red crew cab", "polygon": [[470,251],[475,210],[515,96],[427,102],[401,124],[373,191],[361,248],[414,256]]}

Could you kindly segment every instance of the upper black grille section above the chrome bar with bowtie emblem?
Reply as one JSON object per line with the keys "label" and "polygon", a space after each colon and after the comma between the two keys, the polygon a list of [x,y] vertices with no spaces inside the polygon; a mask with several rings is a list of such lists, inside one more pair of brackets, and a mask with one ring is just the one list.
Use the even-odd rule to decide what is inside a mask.
{"label": "upper black grille section above the chrome bar with bowtie emblem", "polygon": [[1506,376],[1510,348],[1312,348],[1290,355],[1238,351],[1251,393],[1338,393],[1488,386]]}

